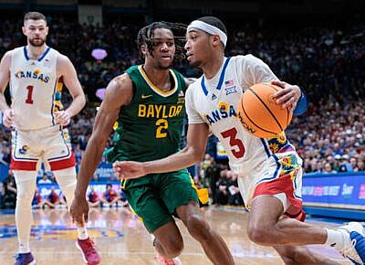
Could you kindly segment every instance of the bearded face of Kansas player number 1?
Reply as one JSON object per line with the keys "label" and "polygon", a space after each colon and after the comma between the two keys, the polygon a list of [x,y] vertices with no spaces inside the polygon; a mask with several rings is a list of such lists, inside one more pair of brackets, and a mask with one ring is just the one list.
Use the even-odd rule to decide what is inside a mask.
{"label": "bearded face of Kansas player number 1", "polygon": [[30,45],[40,47],[46,42],[48,26],[43,19],[28,19],[22,29]]}

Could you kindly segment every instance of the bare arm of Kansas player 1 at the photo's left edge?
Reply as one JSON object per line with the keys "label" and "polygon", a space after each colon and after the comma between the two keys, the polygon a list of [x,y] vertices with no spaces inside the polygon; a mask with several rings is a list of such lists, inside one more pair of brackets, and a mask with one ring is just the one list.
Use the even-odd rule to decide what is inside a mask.
{"label": "bare arm of Kansas player 1 at the photo's left edge", "polygon": [[13,124],[14,111],[10,109],[5,100],[6,86],[10,80],[11,52],[7,51],[0,62],[0,111],[4,113],[3,122],[6,127]]}

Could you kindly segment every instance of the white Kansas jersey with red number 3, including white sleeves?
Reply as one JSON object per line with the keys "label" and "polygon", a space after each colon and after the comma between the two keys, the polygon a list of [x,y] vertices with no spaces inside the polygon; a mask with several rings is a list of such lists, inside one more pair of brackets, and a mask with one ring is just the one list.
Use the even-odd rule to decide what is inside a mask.
{"label": "white Kansas jersey with red number 3, including white sleeves", "polygon": [[230,166],[240,175],[250,172],[268,157],[295,152],[285,133],[265,140],[246,132],[236,118],[236,106],[243,92],[260,82],[277,80],[275,74],[259,58],[252,55],[224,58],[224,63],[211,80],[204,76],[186,92],[189,123],[207,123],[223,144]]}

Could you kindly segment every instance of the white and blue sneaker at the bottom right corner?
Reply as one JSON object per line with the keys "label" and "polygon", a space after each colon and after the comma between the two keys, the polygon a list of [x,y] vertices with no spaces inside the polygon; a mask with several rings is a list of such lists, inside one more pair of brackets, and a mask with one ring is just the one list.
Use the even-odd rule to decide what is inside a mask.
{"label": "white and blue sneaker at the bottom right corner", "polygon": [[338,231],[344,234],[345,243],[342,249],[338,249],[343,257],[354,264],[365,264],[365,230],[358,222],[350,222],[346,226],[339,227]]}

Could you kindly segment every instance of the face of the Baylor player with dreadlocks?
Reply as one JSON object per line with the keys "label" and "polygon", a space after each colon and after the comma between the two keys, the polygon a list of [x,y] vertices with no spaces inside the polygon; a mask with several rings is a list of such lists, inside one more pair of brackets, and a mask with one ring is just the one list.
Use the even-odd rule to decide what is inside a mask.
{"label": "face of the Baylor player with dreadlocks", "polygon": [[169,69],[175,56],[175,41],[172,31],[166,28],[156,28],[153,32],[152,54],[146,51],[146,59],[151,60],[158,69]]}

